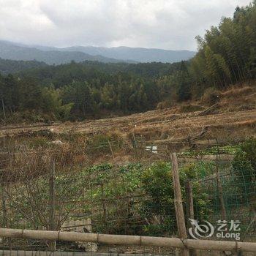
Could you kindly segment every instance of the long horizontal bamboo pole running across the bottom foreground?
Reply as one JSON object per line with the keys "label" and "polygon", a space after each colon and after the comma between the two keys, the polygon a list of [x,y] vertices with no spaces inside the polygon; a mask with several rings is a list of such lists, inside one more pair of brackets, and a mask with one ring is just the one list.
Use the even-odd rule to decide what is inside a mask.
{"label": "long horizontal bamboo pole running across the bottom foreground", "polygon": [[161,246],[179,249],[201,249],[231,252],[256,252],[256,243],[238,241],[211,241],[152,236],[124,236],[98,233],[77,233],[48,230],[18,230],[0,228],[0,237],[28,238],[53,241],[81,241],[97,244]]}

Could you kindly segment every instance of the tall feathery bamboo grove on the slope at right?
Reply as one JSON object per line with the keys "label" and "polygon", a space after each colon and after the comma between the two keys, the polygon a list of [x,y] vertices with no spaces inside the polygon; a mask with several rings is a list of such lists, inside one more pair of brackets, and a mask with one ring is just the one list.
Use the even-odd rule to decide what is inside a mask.
{"label": "tall feathery bamboo grove on the slope at right", "polygon": [[256,75],[256,1],[237,7],[232,18],[222,18],[204,38],[197,37],[198,53],[190,61],[196,83],[217,89],[242,83]]}

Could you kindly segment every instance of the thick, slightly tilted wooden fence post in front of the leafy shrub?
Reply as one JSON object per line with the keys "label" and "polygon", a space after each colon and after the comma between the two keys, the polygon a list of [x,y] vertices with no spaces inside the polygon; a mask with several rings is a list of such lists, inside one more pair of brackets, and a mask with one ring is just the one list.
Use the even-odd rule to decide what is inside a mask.
{"label": "thick, slightly tilted wooden fence post in front of the leafy shrub", "polygon": [[[176,153],[171,153],[170,157],[172,161],[174,206],[176,212],[176,222],[178,226],[178,237],[187,238],[187,230],[181,196],[181,184],[178,174],[178,157]],[[189,256],[189,249],[182,249],[181,256]]]}

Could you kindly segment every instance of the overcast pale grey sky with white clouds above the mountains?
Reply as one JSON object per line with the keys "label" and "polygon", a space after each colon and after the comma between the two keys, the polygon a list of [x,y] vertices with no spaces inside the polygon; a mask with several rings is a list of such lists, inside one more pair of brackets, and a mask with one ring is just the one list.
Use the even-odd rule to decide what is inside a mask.
{"label": "overcast pale grey sky with white clouds above the mountains", "polygon": [[196,50],[249,0],[0,0],[0,39],[29,45]]}

